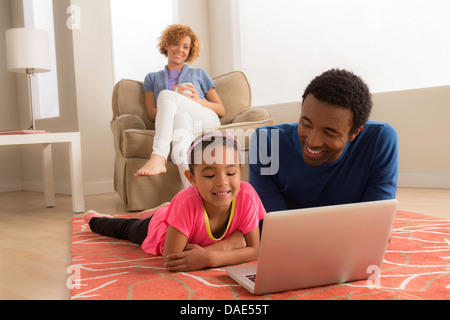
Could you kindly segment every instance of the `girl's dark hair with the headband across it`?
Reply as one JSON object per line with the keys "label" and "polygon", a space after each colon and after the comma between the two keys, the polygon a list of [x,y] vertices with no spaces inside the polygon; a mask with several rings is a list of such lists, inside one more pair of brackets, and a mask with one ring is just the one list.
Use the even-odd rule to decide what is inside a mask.
{"label": "girl's dark hair with the headband across it", "polygon": [[[211,148],[215,148],[217,146],[234,148],[234,150],[236,150],[236,152],[238,153],[238,162],[241,163],[241,145],[239,141],[236,140],[236,138],[234,138],[230,134],[224,134],[221,132],[205,132],[194,139],[194,141],[191,143],[191,146],[189,147],[188,166],[191,173],[194,173],[195,164],[202,163],[203,151],[208,146],[210,146]],[[200,150],[201,157],[200,159],[198,159],[195,155],[199,154],[197,151]]]}

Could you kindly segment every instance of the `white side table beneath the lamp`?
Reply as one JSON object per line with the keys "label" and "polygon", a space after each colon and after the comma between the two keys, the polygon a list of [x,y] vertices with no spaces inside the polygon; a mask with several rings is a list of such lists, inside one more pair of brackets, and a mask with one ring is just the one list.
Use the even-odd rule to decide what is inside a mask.
{"label": "white side table beneath the lamp", "polygon": [[83,176],[81,170],[81,144],[79,132],[36,133],[0,135],[0,146],[41,144],[42,171],[44,179],[45,205],[55,205],[55,187],[53,181],[52,143],[69,144],[70,179],[72,187],[73,212],[84,211]]}

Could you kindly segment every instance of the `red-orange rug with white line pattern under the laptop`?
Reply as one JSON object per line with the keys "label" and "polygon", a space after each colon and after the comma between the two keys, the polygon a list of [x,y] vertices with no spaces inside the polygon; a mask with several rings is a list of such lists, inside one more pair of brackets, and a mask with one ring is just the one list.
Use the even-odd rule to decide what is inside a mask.
{"label": "red-orange rug with white line pattern under the laptop", "polygon": [[450,299],[450,220],[421,214],[397,212],[378,278],[266,296],[248,293],[224,268],[167,272],[162,257],[94,234],[79,217],[72,224],[73,300]]}

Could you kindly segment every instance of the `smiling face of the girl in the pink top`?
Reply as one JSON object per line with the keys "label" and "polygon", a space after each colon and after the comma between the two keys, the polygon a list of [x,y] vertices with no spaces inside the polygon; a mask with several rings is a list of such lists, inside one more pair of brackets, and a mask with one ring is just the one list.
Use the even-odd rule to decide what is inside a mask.
{"label": "smiling face of the girl in the pink top", "polygon": [[243,166],[238,158],[233,147],[214,148],[211,158],[204,156],[201,164],[194,165],[193,173],[186,171],[189,182],[203,198],[208,214],[226,213],[239,193]]}

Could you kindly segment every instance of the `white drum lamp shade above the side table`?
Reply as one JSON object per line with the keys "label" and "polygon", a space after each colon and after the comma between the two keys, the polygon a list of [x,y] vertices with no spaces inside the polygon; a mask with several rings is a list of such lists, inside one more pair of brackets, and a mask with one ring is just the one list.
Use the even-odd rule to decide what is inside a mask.
{"label": "white drum lamp shade above the side table", "polygon": [[8,71],[35,73],[51,70],[50,39],[45,30],[15,28],[6,31],[6,58]]}

